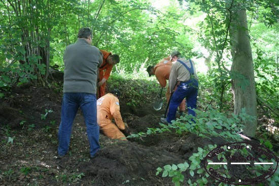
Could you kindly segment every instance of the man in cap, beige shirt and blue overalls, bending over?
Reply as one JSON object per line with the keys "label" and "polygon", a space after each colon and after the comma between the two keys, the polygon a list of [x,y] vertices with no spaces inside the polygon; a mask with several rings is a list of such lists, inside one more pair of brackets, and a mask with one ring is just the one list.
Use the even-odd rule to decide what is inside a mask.
{"label": "man in cap, beige shirt and blue overalls, bending over", "polygon": [[[162,123],[170,123],[176,118],[179,104],[186,98],[188,114],[195,116],[194,110],[197,107],[198,96],[198,76],[191,59],[181,58],[179,51],[171,52],[170,56],[175,63],[172,65],[169,76],[169,88],[172,93],[168,114],[166,118],[161,118]],[[175,86],[178,86],[176,91]]]}

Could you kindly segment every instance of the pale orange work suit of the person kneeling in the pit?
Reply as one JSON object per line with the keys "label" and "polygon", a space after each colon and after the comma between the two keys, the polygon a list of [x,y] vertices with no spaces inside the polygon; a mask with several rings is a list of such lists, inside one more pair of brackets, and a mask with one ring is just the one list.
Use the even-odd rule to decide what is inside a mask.
{"label": "pale orange work suit of the person kneeling in the pit", "polygon": [[[113,118],[116,125],[112,122]],[[103,135],[112,139],[127,140],[120,131],[125,130],[125,125],[120,114],[119,100],[113,94],[106,94],[97,100],[97,122]]]}

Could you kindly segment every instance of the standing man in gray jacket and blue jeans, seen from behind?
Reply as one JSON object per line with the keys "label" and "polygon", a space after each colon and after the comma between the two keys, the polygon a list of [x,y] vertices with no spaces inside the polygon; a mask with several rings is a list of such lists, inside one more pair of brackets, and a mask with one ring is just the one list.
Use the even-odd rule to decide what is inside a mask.
{"label": "standing man in gray jacket and blue jeans, seen from behind", "polygon": [[96,82],[102,53],[92,44],[92,32],[81,28],[78,41],[65,49],[64,84],[61,123],[58,131],[58,155],[65,156],[71,138],[73,121],[81,107],[90,144],[90,156],[100,149],[97,123]]}

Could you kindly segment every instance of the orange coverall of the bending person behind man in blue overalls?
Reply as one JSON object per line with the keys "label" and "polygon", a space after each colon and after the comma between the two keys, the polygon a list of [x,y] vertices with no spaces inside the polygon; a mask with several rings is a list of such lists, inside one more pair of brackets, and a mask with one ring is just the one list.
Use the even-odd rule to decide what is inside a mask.
{"label": "orange coverall of the bending person behind man in blue overalls", "polygon": [[[161,87],[166,86],[166,80],[169,78],[170,69],[172,66],[172,62],[170,60],[170,57],[163,58],[155,67],[154,67],[154,74],[159,81]],[[168,102],[170,98],[170,90],[169,86],[166,90],[166,102]],[[185,110],[185,101],[183,100],[181,104],[179,105],[179,110],[184,111]]]}

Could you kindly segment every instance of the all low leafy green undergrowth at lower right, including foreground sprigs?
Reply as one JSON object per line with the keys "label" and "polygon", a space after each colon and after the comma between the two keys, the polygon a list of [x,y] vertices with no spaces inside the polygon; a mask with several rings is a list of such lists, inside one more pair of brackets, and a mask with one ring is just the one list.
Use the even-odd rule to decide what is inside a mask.
{"label": "all low leafy green undergrowth at lower right, including foreground sprigs", "polygon": [[[243,139],[238,135],[238,133],[244,128],[241,123],[251,119],[251,116],[246,114],[245,109],[242,109],[239,115],[220,113],[212,107],[208,107],[208,110],[205,112],[199,110],[195,111],[197,113],[196,117],[193,117],[192,115],[181,116],[177,120],[172,120],[172,123],[169,125],[159,123],[161,128],[148,128],[147,132],[131,134],[128,138],[141,138],[158,133],[176,133],[182,135],[190,132],[203,138],[219,137],[227,142],[241,142]],[[264,143],[264,145],[272,147],[268,142]],[[189,174],[192,177],[186,180],[189,185],[206,185],[209,180],[212,182],[212,179],[208,180],[210,175],[205,172],[204,167],[202,167],[202,161],[205,161],[204,158],[207,154],[216,147],[217,145],[198,147],[197,152],[193,153],[188,161],[177,165],[172,164],[165,165],[162,168],[158,167],[156,169],[156,175],[162,173],[162,177],[172,177],[172,182],[175,183],[175,185],[180,185],[185,180],[183,172],[189,171]],[[225,159],[224,153],[218,154],[218,159],[220,160],[221,158]],[[214,165],[214,168],[219,169],[221,166],[222,165]],[[226,177],[225,175],[228,175],[229,170],[226,165],[224,165],[224,167],[225,172],[222,176]],[[268,166],[265,166],[263,170],[268,170]],[[195,174],[198,175],[198,179],[194,179],[193,176]],[[260,170],[255,170],[255,174],[259,176]],[[228,178],[230,178],[229,175]],[[270,182],[270,185],[275,186],[278,181],[278,173],[273,174],[272,177],[268,178],[268,181]],[[226,185],[217,180],[215,180],[215,184]]]}

